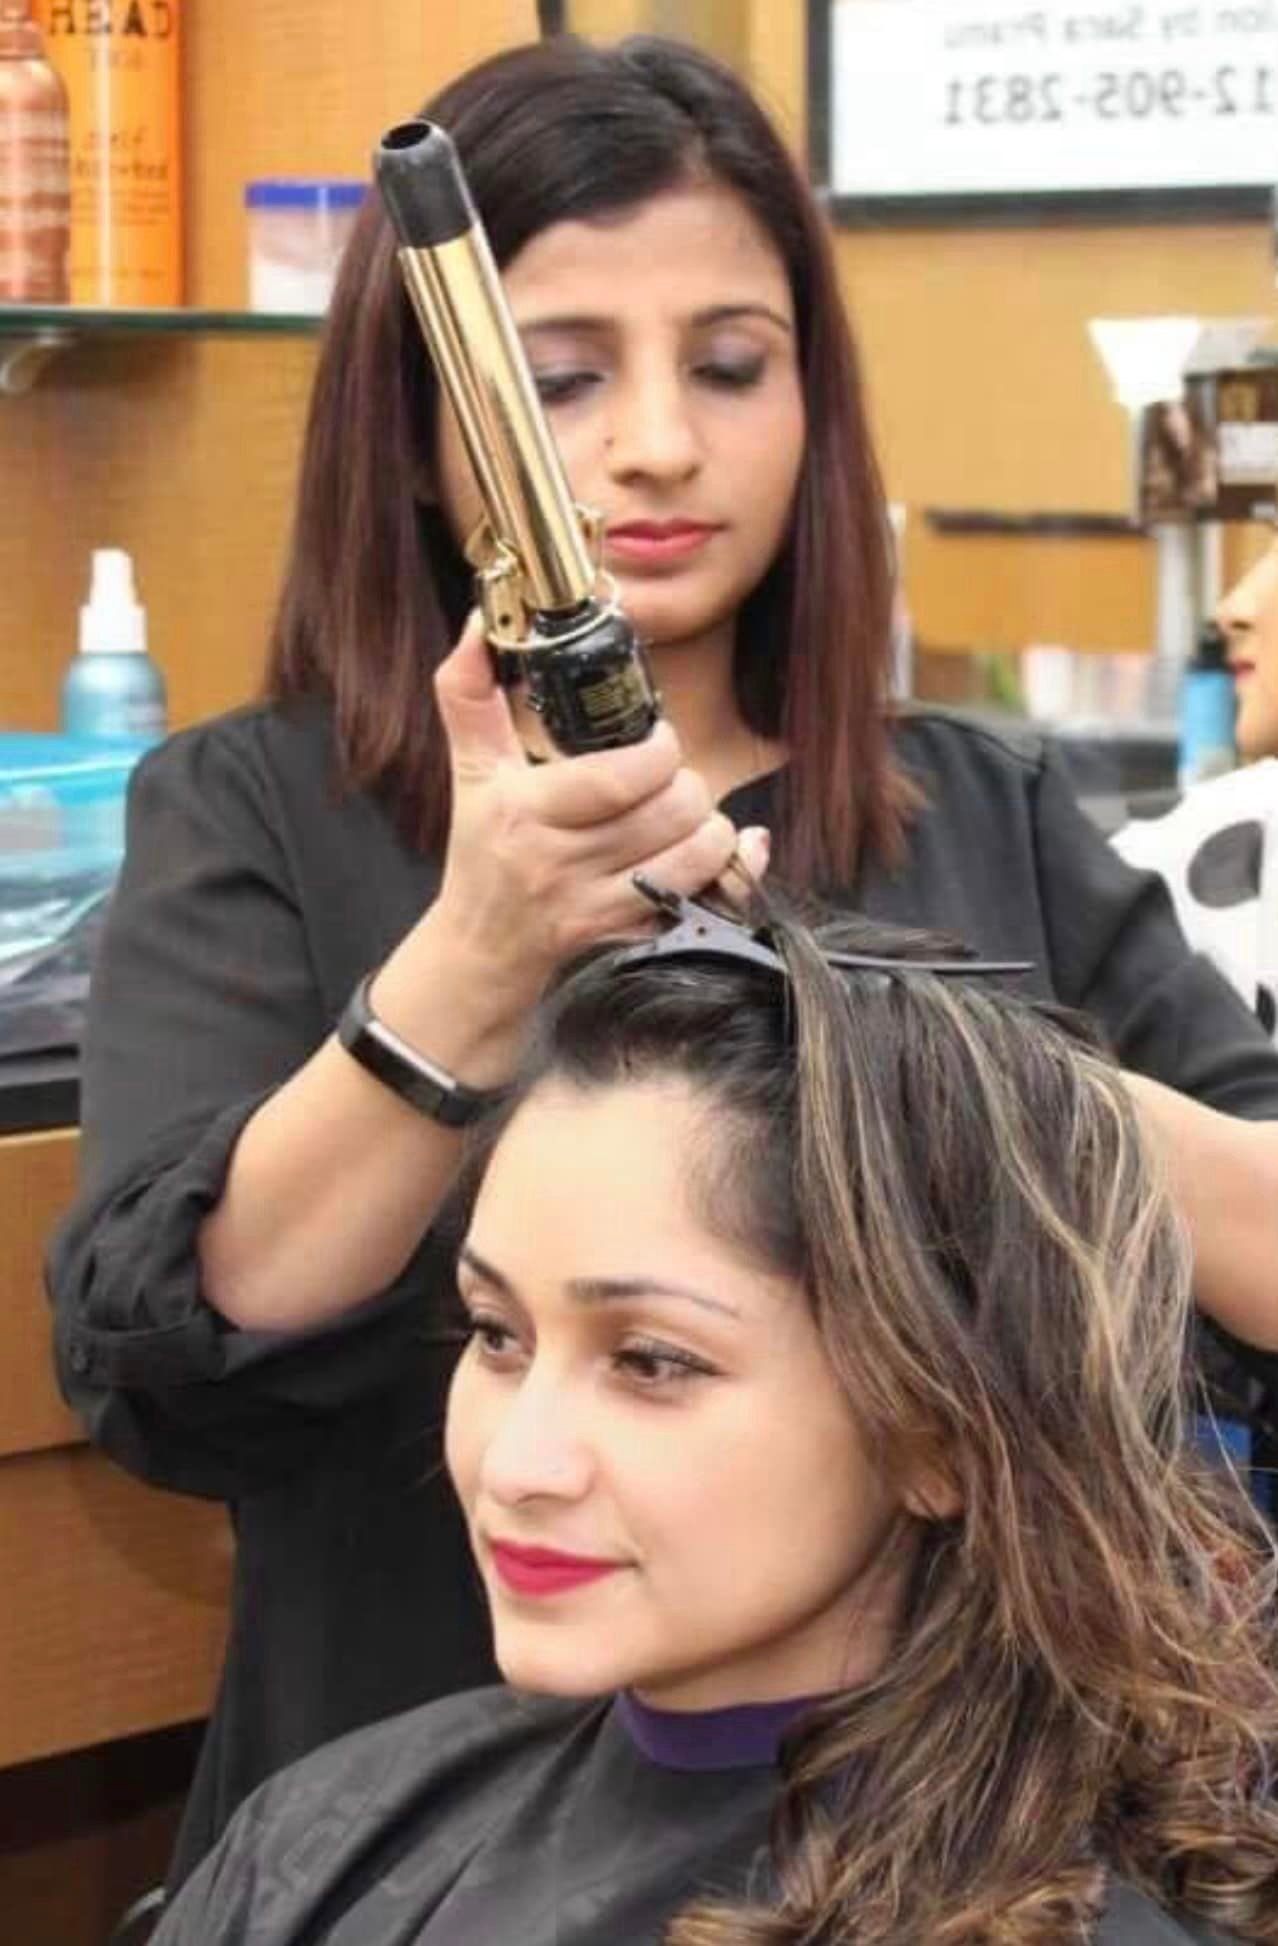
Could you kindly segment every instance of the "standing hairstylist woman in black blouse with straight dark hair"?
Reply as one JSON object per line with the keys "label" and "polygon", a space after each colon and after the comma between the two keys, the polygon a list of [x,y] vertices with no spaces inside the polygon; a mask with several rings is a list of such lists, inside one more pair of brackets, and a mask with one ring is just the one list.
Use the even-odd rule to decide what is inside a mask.
{"label": "standing hairstylist woman in black blouse with straight dark hair", "polygon": [[[471,485],[389,224],[333,302],[266,699],[136,776],[89,1024],[58,1360],[103,1448],[226,1498],[222,1691],[183,1872],[325,1738],[488,1668],[440,1471],[457,1329],[432,1228],[459,1138],[335,1039],[350,994],[469,1090],[504,1082],[576,948],[768,827],[805,889],[1035,961],[1132,1072],[1196,1292],[1278,1345],[1278,1061],[1033,743],[885,704],[889,549],[817,204],[687,47],[500,56],[453,136],[669,726],[529,767],[463,636]],[[718,802],[718,810],[716,810]],[[741,841],[739,841],[741,833]],[[1163,1084],[1163,1086],[1159,1086]],[[1196,1099],[1190,1099],[1196,1098]]]}

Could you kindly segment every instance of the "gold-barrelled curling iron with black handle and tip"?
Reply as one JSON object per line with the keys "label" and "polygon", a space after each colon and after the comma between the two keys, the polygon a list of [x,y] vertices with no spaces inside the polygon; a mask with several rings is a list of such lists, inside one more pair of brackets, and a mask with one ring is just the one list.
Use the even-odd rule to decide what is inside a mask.
{"label": "gold-barrelled curling iron with black handle and tip", "polygon": [[465,555],[498,679],[527,685],[568,755],[638,743],[659,699],[599,562],[603,522],[568,490],[457,150],[434,123],[401,123],[373,173],[484,504]]}

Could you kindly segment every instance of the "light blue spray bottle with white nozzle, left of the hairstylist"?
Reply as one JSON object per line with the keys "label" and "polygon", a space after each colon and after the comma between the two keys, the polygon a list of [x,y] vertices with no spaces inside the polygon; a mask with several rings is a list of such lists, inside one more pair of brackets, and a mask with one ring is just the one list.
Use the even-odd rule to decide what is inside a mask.
{"label": "light blue spray bottle with white nozzle, left of the hairstylist", "polygon": [[62,730],[70,736],[161,738],[163,675],[146,652],[146,609],[121,547],[93,551],[89,599],[80,609],[80,654],[62,677]]}

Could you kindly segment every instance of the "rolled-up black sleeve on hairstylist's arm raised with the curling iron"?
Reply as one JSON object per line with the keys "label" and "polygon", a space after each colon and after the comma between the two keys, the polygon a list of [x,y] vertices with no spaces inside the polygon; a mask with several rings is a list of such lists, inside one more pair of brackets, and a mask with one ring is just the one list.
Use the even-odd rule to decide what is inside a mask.
{"label": "rolled-up black sleeve on hairstylist's arm raised with the curling iron", "polygon": [[239,1133],[331,1027],[270,792],[224,726],[134,773],[93,969],[82,1191],[49,1253],[58,1376],[95,1442],[218,1498],[305,1465],[393,1382],[432,1259],[426,1242],[391,1290],[309,1333],[237,1331],[200,1290],[196,1238]]}

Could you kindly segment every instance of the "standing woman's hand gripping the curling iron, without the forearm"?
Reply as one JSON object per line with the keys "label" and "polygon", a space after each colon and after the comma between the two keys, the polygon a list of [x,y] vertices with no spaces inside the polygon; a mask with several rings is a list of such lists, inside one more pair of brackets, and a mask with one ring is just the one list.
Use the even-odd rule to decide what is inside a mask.
{"label": "standing woman's hand gripping the curling iron, without the forearm", "polygon": [[[574,952],[644,926],[636,870],[681,893],[726,872],[737,831],[683,763],[669,722],[624,749],[531,765],[475,617],[436,697],[453,815],[432,920],[512,1006],[529,1006]],[[757,848],[751,835],[749,870]]]}

